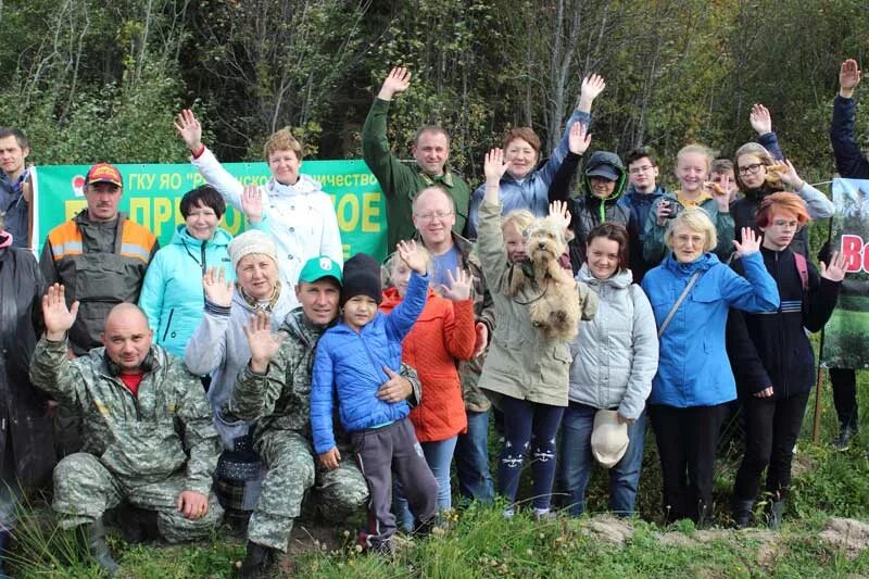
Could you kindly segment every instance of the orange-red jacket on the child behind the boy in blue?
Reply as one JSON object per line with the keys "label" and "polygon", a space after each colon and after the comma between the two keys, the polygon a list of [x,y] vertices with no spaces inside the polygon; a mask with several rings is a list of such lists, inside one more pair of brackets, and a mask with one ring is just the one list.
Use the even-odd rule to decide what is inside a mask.
{"label": "orange-red jacket on the child behind the boy in blue", "polygon": [[[387,288],[380,311],[401,303],[399,290]],[[402,361],[414,367],[423,383],[423,403],[411,412],[420,442],[446,440],[467,429],[465,403],[456,363],[474,355],[474,301],[452,302],[428,290],[428,301],[402,342]]]}

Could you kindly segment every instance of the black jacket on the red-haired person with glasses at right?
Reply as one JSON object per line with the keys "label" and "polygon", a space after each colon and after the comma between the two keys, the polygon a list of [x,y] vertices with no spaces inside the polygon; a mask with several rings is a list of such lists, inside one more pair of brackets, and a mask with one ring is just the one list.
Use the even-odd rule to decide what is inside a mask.
{"label": "black jacket on the red-haired person with glasses at right", "polygon": [[[815,383],[815,353],[806,336],[820,331],[833,313],[841,284],[823,279],[808,266],[808,289],[796,269],[793,250],[761,248],[764,264],[781,297],[777,312],[747,314],[730,310],[727,351],[741,397],[772,387],[774,398],[806,392]],[[739,260],[733,268],[742,274]]]}

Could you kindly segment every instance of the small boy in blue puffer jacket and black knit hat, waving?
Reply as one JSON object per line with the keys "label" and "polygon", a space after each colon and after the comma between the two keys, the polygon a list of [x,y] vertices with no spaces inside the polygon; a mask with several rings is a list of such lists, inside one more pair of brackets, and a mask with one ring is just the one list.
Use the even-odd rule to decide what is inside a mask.
{"label": "small boy in blue puffer jacket and black knit hat, waving", "polygon": [[367,546],[388,553],[395,532],[392,471],[402,483],[420,531],[434,520],[438,481],[426,463],[405,401],[389,403],[377,390],[398,372],[401,343],[426,305],[426,256],[414,241],[400,242],[398,253],[412,269],[404,301],[386,315],[380,266],[358,253],[347,261],[341,288],[342,319],[317,342],[311,386],[311,428],[314,450],[325,468],[337,468],[341,454],[335,443],[332,408],[338,398],[341,426],[350,433],[360,470],[368,482]]}

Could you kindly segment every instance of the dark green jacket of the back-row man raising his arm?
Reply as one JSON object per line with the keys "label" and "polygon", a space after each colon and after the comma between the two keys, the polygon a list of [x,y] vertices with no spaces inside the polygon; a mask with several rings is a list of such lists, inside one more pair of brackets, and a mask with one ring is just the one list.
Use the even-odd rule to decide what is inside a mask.
{"label": "dark green jacket of the back-row man raising his arm", "polygon": [[468,184],[452,171],[446,171],[440,177],[431,177],[418,166],[411,168],[393,155],[387,140],[388,112],[389,101],[375,99],[362,127],[362,156],[380,181],[380,188],[387,198],[389,251],[393,251],[402,239],[413,239],[416,234],[411,217],[414,197],[432,185],[442,187],[455,201],[453,231],[461,235],[465,229],[470,204]]}

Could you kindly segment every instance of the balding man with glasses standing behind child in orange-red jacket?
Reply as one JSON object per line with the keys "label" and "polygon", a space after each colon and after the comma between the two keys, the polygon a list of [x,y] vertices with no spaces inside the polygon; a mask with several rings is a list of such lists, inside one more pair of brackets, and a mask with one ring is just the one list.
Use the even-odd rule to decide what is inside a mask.
{"label": "balding man with glasses standing behind child in orange-red jacket", "polygon": [[474,314],[477,324],[475,357],[461,362],[458,374],[468,417],[468,429],[458,435],[455,446],[458,489],[465,501],[491,503],[494,499],[492,475],[489,470],[489,399],[477,388],[482,370],[482,351],[494,330],[492,297],[486,289],[479,257],[470,241],[456,234],[455,205],[450,194],[440,187],[427,187],[413,202],[413,224],[432,260],[431,286],[449,285],[446,272],[455,274],[465,269],[474,278]]}

